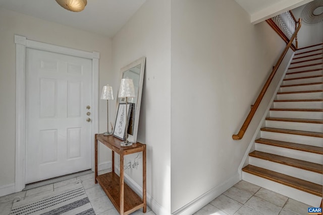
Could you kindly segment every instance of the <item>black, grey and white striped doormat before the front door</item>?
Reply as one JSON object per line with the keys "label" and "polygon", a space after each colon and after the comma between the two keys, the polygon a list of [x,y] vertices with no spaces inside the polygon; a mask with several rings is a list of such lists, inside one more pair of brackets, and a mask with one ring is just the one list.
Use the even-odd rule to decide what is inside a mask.
{"label": "black, grey and white striped doormat before the front door", "polygon": [[81,183],[58,188],[57,191],[26,197],[13,204],[10,215],[79,214],[95,215]]}

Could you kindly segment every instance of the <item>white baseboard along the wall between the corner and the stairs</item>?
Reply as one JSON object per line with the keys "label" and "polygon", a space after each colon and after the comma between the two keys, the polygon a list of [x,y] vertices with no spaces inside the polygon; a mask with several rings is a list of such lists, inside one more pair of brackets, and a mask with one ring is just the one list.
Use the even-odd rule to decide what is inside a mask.
{"label": "white baseboard along the wall between the corner and the stairs", "polygon": [[194,212],[198,211],[214,198],[217,198],[219,195],[224,193],[230,187],[235,185],[240,181],[240,174],[237,172],[233,177],[229,178],[222,184],[212,188],[211,190],[207,191],[206,193],[202,194],[198,198],[194,199],[193,201],[189,202],[188,204],[184,205],[183,207],[179,208],[178,210],[174,211],[172,215],[191,215]]}

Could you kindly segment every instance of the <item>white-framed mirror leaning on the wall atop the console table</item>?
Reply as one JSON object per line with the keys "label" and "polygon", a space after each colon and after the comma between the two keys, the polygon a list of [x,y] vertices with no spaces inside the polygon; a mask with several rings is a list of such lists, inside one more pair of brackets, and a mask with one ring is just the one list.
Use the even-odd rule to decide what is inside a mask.
{"label": "white-framed mirror leaning on the wall atop the console table", "polygon": [[[120,116],[120,109],[125,107],[128,110],[128,126],[127,133],[128,133],[128,140],[131,142],[137,142],[137,133],[138,133],[138,123],[139,123],[139,114],[140,114],[140,104],[141,104],[141,94],[142,94],[142,86],[143,86],[143,77],[145,71],[145,60],[146,57],[141,57],[138,60],[122,67],[120,69],[120,77],[119,77],[119,85],[122,79],[129,78],[133,80],[135,95],[136,97],[128,98],[128,106],[126,106],[125,98],[117,98],[116,101],[116,117],[115,117],[115,130],[114,136],[123,139],[125,136],[125,130],[121,131],[118,121]],[[119,95],[119,89],[117,96]],[[116,130],[117,129],[117,130]],[[123,128],[124,129],[124,128]],[[120,132],[119,132],[120,130]],[[116,135],[118,133],[118,135]]]}

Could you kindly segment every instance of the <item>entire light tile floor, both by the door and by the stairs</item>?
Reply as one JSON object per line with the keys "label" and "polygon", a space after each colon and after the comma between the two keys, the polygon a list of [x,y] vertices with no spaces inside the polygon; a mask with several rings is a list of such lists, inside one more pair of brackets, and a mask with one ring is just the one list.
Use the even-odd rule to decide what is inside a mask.
{"label": "entire light tile floor, both by the door and by the stairs", "polygon": [[[104,172],[100,172],[100,174],[101,173]],[[77,180],[82,180],[82,185],[92,204],[95,214],[119,214],[101,187],[98,184],[94,184],[94,173],[2,196],[0,197],[0,214],[8,215],[10,213],[14,199],[18,200],[19,197],[24,199],[31,195],[39,195],[40,193],[64,189],[65,186],[76,183]],[[309,205],[258,187],[254,184],[240,181],[194,213],[194,215],[305,215],[307,214],[307,207],[309,207]],[[131,214],[154,215],[155,213],[147,207],[146,213],[143,213],[142,210],[137,210]]]}

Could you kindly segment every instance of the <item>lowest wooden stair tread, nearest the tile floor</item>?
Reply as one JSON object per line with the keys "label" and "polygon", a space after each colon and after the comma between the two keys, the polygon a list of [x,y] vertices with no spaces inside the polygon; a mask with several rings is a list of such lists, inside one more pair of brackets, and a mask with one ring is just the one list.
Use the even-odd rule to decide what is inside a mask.
{"label": "lowest wooden stair tread, nearest the tile floor", "polygon": [[319,184],[252,165],[245,166],[242,171],[322,197],[322,185]]}

